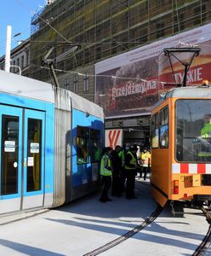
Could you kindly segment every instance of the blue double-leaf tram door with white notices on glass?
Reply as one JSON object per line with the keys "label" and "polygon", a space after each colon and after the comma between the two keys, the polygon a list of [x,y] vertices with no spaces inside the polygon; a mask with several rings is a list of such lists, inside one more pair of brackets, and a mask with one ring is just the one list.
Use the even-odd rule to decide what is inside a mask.
{"label": "blue double-leaf tram door with white notices on glass", "polygon": [[44,113],[0,105],[0,213],[43,206]]}

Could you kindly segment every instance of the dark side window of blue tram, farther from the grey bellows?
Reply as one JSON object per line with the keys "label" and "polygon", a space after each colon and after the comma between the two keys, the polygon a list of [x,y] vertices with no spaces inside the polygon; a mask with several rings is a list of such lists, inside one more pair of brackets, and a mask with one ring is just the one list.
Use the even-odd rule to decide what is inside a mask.
{"label": "dark side window of blue tram, farther from the grey bellows", "polygon": [[100,161],[100,131],[90,129],[90,160],[91,163]]}

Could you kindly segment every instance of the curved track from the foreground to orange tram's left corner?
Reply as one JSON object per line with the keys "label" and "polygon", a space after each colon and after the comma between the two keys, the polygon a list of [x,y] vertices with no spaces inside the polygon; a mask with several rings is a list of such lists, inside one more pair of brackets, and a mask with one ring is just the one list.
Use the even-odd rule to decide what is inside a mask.
{"label": "curved track from the foreground to orange tram's left corner", "polygon": [[155,210],[155,212],[152,212],[152,214],[149,218],[146,218],[140,225],[134,227],[133,230],[129,230],[127,233],[123,234],[123,236],[120,236],[120,237],[114,239],[113,241],[110,241],[110,242],[106,243],[105,245],[94,249],[93,251],[91,251],[89,253],[85,253],[85,254],[83,254],[83,256],[98,255],[100,253],[107,251],[111,247],[117,246],[119,243],[127,240],[129,237],[134,236],[135,234],[140,232],[140,230],[144,230],[145,227],[147,227],[149,224],[151,224],[160,215],[160,213],[162,211],[163,211],[163,207],[157,206],[157,209]]}

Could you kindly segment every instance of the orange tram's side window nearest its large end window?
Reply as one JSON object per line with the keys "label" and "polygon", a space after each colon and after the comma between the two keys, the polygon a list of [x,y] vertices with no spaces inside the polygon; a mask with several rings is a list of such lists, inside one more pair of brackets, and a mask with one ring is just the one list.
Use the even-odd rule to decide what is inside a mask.
{"label": "orange tram's side window nearest its large end window", "polygon": [[164,108],[160,113],[160,148],[168,148],[168,108]]}

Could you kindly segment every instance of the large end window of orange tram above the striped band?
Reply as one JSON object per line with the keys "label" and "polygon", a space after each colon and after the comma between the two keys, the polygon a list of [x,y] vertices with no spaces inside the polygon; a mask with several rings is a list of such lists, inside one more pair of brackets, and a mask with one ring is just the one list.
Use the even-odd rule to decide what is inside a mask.
{"label": "large end window of orange tram above the striped band", "polygon": [[211,101],[178,100],[175,112],[176,160],[211,161]]}

